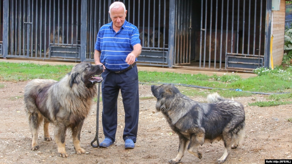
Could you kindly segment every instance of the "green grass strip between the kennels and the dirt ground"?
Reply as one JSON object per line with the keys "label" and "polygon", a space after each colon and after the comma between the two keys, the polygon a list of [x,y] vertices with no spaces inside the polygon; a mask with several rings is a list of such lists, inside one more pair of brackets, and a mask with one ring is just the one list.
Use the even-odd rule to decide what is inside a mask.
{"label": "green grass strip between the kennels and the dirt ground", "polygon": [[[10,63],[0,62],[0,81],[28,81],[35,78],[60,80],[69,73],[73,65],[40,65],[34,63]],[[269,102],[251,104],[257,106],[274,106],[285,103],[292,104],[292,67],[285,69],[258,68],[254,70],[258,76],[241,78],[236,73],[218,76],[213,74],[182,74],[173,72],[139,71],[139,82],[146,85],[161,85],[173,83],[187,96],[203,96],[208,93],[218,92],[223,97],[252,96],[255,93],[286,93],[271,94],[267,98]],[[181,86],[181,85],[188,85]],[[0,84],[0,88],[3,85]],[[235,89],[241,89],[235,91]],[[148,99],[144,97],[142,99]],[[95,100],[97,101],[97,100]],[[264,104],[265,103],[265,104]]]}

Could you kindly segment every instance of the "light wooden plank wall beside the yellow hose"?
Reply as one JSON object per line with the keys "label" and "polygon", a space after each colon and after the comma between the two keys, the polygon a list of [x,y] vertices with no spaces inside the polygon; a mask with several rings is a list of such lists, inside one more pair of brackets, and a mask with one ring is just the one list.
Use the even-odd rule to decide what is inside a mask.
{"label": "light wooden plank wall beside the yellow hose", "polygon": [[273,64],[281,65],[284,54],[284,33],[285,33],[285,0],[281,0],[280,11],[273,12],[273,22],[272,22],[272,34],[273,46],[272,46],[272,56]]}

